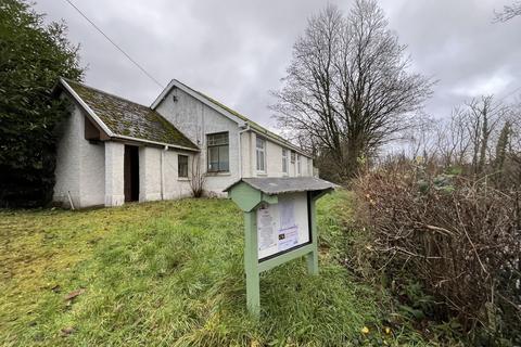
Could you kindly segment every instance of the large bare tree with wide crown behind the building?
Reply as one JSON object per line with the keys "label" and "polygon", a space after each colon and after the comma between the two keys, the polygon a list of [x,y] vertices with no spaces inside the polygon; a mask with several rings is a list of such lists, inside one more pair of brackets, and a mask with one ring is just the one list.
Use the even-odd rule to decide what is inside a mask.
{"label": "large bare tree with wide crown behind the building", "polygon": [[376,1],[356,0],[347,15],[328,5],[308,20],[274,92],[279,126],[313,139],[335,179],[350,178],[431,94],[429,79],[408,73],[405,49]]}

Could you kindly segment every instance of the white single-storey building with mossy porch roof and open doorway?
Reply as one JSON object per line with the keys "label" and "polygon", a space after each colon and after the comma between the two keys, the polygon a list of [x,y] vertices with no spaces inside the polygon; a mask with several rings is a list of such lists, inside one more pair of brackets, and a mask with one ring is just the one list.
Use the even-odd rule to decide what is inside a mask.
{"label": "white single-storey building with mossy porch roof and open doorway", "polygon": [[65,79],[56,92],[72,101],[53,195],[65,206],[190,196],[198,171],[218,196],[240,178],[313,176],[308,154],[178,80],[150,107]]}

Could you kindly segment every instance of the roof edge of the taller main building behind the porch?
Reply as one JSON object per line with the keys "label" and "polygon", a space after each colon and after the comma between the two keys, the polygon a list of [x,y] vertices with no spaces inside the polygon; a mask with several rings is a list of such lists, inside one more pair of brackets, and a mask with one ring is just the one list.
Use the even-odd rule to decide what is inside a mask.
{"label": "roof edge of the taller main building behind the porch", "polygon": [[239,124],[239,126],[241,127],[244,127],[244,126],[250,126],[250,128],[268,138],[268,139],[271,139],[272,141],[275,142],[279,142],[280,144],[289,147],[289,149],[292,149],[301,154],[304,154],[306,156],[309,156],[309,154],[305,153],[302,149],[300,149],[298,146],[294,145],[293,143],[291,143],[290,141],[285,140],[284,138],[278,136],[277,133],[272,132],[272,131],[269,131],[268,129],[266,129],[265,127],[260,126],[259,124],[251,120],[250,118],[247,118],[246,116],[240,114],[239,112],[226,106],[225,104],[218,102],[217,100],[213,99],[213,98],[209,98],[208,95],[191,88],[191,87],[188,87],[187,85],[180,82],[179,80],[177,79],[173,79],[168,86],[166,86],[166,88],[161,92],[161,94],[157,97],[157,99],[155,99],[155,101],[152,103],[152,105],[150,106],[152,110],[155,110],[160,103],[166,98],[166,95],[170,92],[171,89],[174,88],[179,88],[181,89],[182,91],[185,91],[186,93],[192,95],[193,98],[198,99],[199,101],[201,101],[202,103],[204,103],[205,105],[207,105],[208,107],[211,108],[214,108],[215,111],[217,111],[218,113],[227,116],[228,118],[234,120],[236,123]]}

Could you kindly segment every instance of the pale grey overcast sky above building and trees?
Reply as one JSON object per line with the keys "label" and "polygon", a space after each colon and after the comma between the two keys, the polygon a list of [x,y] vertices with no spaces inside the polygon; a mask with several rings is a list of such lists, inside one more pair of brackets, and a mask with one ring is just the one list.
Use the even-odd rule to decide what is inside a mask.
{"label": "pale grey overcast sky above building and trees", "polygon": [[[177,78],[270,128],[269,90],[280,87],[307,17],[327,5],[317,0],[73,2],[163,85]],[[352,3],[329,2],[345,11]],[[411,68],[440,80],[425,105],[429,114],[443,117],[469,98],[500,99],[521,87],[521,17],[492,23],[494,10],[509,2],[380,1],[390,28],[408,46]],[[88,85],[145,105],[160,94],[160,87],[64,0],[37,0],[36,10],[66,21],[69,40],[81,46]]]}

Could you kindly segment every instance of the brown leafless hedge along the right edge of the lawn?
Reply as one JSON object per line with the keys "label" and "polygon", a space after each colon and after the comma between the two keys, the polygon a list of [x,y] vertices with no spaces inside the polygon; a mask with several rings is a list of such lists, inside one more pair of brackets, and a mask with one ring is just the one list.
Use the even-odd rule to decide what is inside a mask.
{"label": "brown leafless hedge along the right edge of the lawn", "polygon": [[428,174],[404,160],[368,172],[354,188],[358,218],[370,235],[353,259],[394,281],[419,281],[441,303],[441,319],[457,317],[466,330],[508,331],[508,325],[519,333],[516,191],[496,190],[486,177]]}

